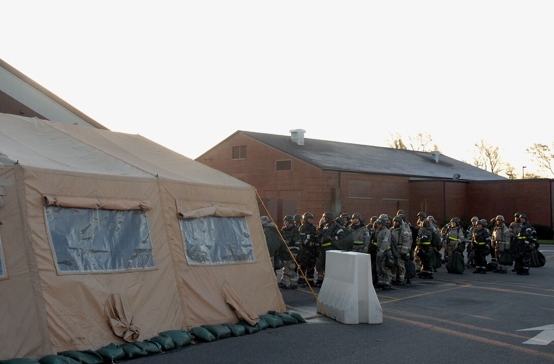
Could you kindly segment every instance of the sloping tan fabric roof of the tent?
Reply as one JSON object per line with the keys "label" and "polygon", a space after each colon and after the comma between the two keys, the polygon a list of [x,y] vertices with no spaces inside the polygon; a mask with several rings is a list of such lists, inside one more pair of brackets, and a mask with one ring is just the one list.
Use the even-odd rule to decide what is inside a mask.
{"label": "sloping tan fabric roof of the tent", "polygon": [[11,114],[0,113],[0,153],[8,162],[52,170],[251,188],[140,135]]}

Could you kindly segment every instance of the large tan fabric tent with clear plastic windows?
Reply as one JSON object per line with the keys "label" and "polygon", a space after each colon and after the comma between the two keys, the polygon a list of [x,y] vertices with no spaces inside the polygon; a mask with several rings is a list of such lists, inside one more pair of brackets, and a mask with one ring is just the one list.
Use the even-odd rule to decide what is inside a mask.
{"label": "large tan fabric tent with clear plastic windows", "polygon": [[0,114],[0,198],[0,359],[285,310],[252,186],[141,136]]}

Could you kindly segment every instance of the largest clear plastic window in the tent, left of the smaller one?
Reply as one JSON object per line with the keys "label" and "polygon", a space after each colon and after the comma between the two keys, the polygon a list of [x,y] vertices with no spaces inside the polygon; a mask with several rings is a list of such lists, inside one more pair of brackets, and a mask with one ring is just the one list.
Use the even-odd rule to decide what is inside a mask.
{"label": "largest clear plastic window in the tent, left of the smaller one", "polygon": [[44,210],[58,274],[157,269],[145,211]]}

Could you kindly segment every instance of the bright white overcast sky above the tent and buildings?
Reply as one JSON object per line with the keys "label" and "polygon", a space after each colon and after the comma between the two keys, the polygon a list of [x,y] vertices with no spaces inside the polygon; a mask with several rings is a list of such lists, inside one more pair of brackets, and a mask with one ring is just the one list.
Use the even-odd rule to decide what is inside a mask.
{"label": "bright white overcast sky above the tent and buildings", "polygon": [[[552,1],[8,1],[0,58],[111,130],[196,158],[237,130],[387,146],[481,139],[536,172]],[[546,173],[545,173],[546,176]],[[551,177],[551,176],[550,176]]]}

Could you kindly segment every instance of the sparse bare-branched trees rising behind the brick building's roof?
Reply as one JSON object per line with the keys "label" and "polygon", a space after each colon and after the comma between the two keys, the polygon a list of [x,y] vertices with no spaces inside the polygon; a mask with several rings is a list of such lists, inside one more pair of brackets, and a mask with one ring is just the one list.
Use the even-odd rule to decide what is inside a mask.
{"label": "sparse bare-branched trees rising behind the brick building's roof", "polygon": [[[413,150],[419,152],[432,152],[439,151],[440,148],[433,142],[433,137],[427,133],[418,133],[417,135],[408,135],[407,138],[399,133],[391,134],[391,137],[387,140],[387,144],[391,148]],[[534,143],[533,146],[525,150],[531,156],[533,161],[538,167],[539,171],[544,175],[540,175],[532,172],[522,173],[522,178],[527,180],[531,178],[552,178],[554,177],[554,170],[552,162],[554,162],[554,142],[551,146],[541,143]],[[471,161],[462,160],[465,163],[479,167],[485,171],[500,173],[506,175],[510,180],[517,178],[516,168],[509,162],[502,160],[500,156],[500,147],[493,146],[490,143],[481,139],[474,144],[473,157]]]}

